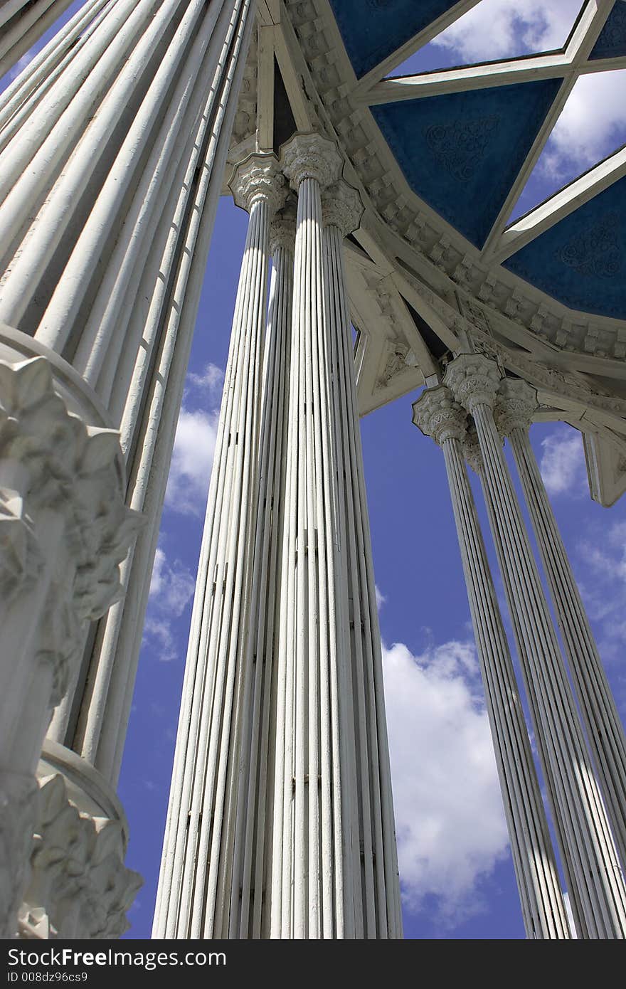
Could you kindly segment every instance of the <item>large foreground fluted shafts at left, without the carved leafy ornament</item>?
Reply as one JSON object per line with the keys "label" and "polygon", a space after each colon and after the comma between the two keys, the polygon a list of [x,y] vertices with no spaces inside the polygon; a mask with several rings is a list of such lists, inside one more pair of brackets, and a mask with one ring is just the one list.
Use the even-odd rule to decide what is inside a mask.
{"label": "large foreground fluted shafts at left, without the carved leafy ornament", "polygon": [[81,634],[46,742],[64,747],[56,766],[80,757],[89,799],[122,761],[254,9],[90,0],[0,97],[0,357],[40,355],[60,394],[89,394],[120,430],[124,495],[144,519],[126,597]]}

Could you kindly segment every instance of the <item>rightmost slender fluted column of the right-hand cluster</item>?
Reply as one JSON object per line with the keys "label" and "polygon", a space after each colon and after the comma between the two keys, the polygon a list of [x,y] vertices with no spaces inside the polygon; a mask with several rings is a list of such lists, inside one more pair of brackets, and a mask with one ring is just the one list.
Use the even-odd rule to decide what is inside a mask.
{"label": "rightmost slender fluted column of the right-hand cluster", "polygon": [[530,443],[537,393],[505,379],[495,418],[515,458],[613,837],[626,867],[626,739],[570,560]]}

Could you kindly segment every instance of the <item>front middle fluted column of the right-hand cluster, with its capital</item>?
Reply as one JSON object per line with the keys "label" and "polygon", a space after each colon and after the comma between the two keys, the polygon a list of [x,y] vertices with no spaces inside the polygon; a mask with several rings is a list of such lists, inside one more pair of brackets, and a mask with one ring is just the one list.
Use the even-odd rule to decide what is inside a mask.
{"label": "front middle fluted column of the right-hand cluster, with its capital", "polygon": [[[492,518],[501,545],[511,605],[525,644],[538,723],[554,798],[564,824],[562,839],[572,864],[587,936],[623,939],[626,889],[606,813],[586,752],[572,688],[512,486],[492,407],[499,388],[496,364],[480,354],[461,354],[444,379],[473,415],[484,463]],[[530,691],[529,691],[530,692]]]}

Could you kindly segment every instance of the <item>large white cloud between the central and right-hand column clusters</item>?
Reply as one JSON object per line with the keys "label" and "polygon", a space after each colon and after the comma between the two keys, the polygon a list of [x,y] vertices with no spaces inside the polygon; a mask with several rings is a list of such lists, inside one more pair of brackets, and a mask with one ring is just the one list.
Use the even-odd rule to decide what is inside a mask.
{"label": "large white cloud between the central and right-hand column clusters", "polygon": [[436,897],[453,926],[481,911],[508,844],[474,646],[413,656],[397,643],[383,659],[404,900],[418,911]]}

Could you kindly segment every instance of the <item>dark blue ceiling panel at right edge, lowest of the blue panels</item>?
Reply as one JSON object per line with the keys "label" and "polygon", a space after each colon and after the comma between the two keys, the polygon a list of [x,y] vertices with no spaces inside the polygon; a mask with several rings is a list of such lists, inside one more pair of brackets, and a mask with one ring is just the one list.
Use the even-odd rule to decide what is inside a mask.
{"label": "dark blue ceiling panel at right edge, lowest of the blue panels", "polygon": [[571,309],[626,319],[626,178],[541,233],[504,267]]}

